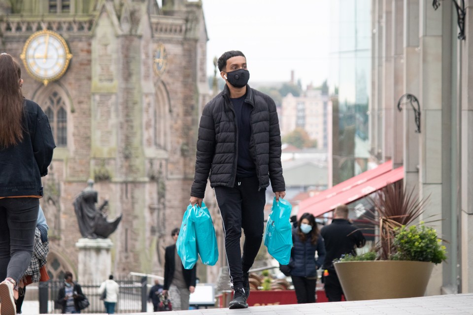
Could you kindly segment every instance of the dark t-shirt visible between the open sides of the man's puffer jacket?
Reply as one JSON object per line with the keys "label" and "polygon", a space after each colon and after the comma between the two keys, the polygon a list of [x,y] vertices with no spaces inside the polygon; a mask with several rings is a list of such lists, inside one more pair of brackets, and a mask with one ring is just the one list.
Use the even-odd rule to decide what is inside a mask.
{"label": "dark t-shirt visible between the open sides of the man's puffer jacket", "polygon": [[238,129],[238,157],[236,162],[236,176],[238,177],[251,177],[256,175],[256,165],[250,154],[250,115],[253,107],[245,103],[245,97],[246,95],[230,98],[235,108],[236,127]]}

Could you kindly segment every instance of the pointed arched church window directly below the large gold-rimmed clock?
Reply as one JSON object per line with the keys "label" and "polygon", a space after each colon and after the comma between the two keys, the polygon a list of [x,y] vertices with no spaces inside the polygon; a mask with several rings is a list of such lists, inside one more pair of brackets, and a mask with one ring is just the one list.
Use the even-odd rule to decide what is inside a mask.
{"label": "pointed arched church window directly below the large gold-rimmed clock", "polygon": [[48,116],[56,145],[66,147],[68,145],[68,114],[64,99],[55,91],[47,97],[42,107]]}

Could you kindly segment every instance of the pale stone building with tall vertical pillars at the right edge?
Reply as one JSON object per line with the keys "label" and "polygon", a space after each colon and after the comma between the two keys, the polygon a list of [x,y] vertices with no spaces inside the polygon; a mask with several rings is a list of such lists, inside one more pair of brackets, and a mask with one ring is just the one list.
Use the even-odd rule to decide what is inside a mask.
{"label": "pale stone building with tall vertical pillars at the right edge", "polygon": [[[473,6],[372,1],[370,147],[404,167],[445,241],[427,294],[473,290]],[[465,6],[464,6],[465,5]],[[458,7],[457,7],[458,6]]]}

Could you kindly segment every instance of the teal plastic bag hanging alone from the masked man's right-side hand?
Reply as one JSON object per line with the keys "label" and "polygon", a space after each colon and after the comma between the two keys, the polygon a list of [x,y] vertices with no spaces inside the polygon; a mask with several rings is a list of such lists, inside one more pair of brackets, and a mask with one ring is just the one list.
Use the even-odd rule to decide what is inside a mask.
{"label": "teal plastic bag hanging alone from the masked man's right-side hand", "polygon": [[281,265],[289,264],[291,258],[292,248],[292,230],[291,217],[292,205],[279,198],[276,202],[276,197],[272,201],[271,213],[268,217],[265,230],[265,246],[268,252]]}

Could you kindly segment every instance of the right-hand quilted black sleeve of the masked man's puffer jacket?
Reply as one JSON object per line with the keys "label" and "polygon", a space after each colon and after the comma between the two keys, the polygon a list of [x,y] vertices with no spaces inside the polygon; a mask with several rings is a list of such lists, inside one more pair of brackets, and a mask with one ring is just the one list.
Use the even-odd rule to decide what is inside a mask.
{"label": "right-hand quilted black sleeve of the masked man's puffer jacket", "polygon": [[285,191],[286,185],[282,176],[281,165],[281,132],[279,130],[279,121],[277,119],[276,105],[268,97],[268,108],[270,111],[270,180],[272,191]]}

